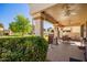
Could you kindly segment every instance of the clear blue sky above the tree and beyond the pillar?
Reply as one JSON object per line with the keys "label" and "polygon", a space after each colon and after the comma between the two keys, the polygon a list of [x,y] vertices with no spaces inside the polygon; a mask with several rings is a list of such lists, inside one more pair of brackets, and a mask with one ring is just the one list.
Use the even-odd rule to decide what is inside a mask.
{"label": "clear blue sky above the tree and beyond the pillar", "polygon": [[[32,21],[30,14],[30,6],[26,3],[0,3],[0,23],[4,25],[4,29],[9,28],[9,23],[13,21],[13,19],[18,14],[23,14]],[[44,28],[52,26],[51,23],[45,22]]]}

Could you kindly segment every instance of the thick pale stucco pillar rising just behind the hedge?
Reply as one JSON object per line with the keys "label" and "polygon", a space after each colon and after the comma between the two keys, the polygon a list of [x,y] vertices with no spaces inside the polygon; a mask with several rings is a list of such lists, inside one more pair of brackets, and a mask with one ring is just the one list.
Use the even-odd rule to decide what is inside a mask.
{"label": "thick pale stucco pillar rising just behind the hedge", "polygon": [[43,36],[43,18],[41,13],[33,15],[34,34]]}

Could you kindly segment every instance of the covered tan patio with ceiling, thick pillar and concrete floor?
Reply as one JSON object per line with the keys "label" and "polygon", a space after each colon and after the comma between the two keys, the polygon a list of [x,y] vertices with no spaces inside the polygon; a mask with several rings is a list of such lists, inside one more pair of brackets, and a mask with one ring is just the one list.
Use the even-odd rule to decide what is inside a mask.
{"label": "covered tan patio with ceiling, thick pillar and concrete floor", "polygon": [[85,51],[79,50],[78,46],[86,46],[84,40],[87,37],[87,4],[33,3],[31,14],[35,35],[43,36],[43,22],[45,21],[51,22],[54,26],[54,36],[48,46],[47,59],[68,62],[70,58],[76,58],[85,61]]}

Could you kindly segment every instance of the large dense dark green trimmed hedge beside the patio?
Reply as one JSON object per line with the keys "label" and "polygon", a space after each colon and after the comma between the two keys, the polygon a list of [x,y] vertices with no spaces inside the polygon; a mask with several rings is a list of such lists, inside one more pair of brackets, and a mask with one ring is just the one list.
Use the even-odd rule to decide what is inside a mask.
{"label": "large dense dark green trimmed hedge beside the patio", "polygon": [[44,62],[47,42],[40,36],[1,37],[1,62]]}

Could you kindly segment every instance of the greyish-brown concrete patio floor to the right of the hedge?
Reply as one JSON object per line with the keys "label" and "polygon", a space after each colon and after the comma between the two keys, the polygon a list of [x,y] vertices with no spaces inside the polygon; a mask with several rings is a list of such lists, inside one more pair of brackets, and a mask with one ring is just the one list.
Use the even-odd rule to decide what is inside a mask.
{"label": "greyish-brown concrete patio floor to the right of the hedge", "polygon": [[[79,44],[79,43],[78,43]],[[74,44],[61,43],[58,45],[50,44],[47,59],[51,62],[69,62],[69,57],[85,61],[84,51]]]}

